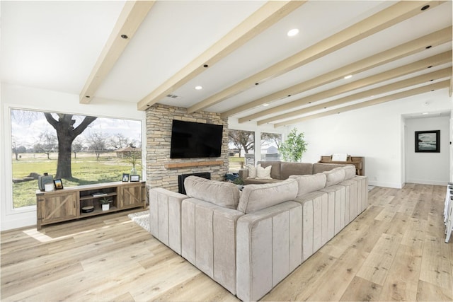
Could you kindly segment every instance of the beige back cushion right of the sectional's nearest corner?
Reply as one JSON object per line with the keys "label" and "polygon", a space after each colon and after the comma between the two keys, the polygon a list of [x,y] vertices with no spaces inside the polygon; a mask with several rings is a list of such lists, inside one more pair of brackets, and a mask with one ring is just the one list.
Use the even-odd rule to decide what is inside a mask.
{"label": "beige back cushion right of the sectional's nearest corner", "polygon": [[246,185],[239,199],[238,211],[245,214],[293,200],[297,196],[297,181],[294,179],[265,185]]}

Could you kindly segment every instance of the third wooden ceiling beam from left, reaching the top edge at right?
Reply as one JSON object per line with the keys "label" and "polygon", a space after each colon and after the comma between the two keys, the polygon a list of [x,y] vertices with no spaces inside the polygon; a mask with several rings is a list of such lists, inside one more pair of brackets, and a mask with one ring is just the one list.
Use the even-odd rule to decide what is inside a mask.
{"label": "third wooden ceiling beam from left, reaching the top edge at right", "polygon": [[[270,66],[257,74],[253,74],[253,76],[249,76],[247,79],[239,81],[233,86],[229,86],[229,88],[226,88],[223,91],[220,91],[219,93],[216,93],[209,98],[190,106],[190,108],[188,108],[188,113],[203,110],[214,104],[222,102],[237,93],[241,93],[242,91],[255,87],[256,83],[263,83],[269,79],[273,79],[292,71],[293,69],[303,66],[304,64],[319,59],[320,57],[326,56],[327,54],[331,54],[340,48],[351,45],[353,42],[357,42],[365,37],[368,37],[369,35],[373,35],[374,33],[389,28],[391,25],[395,25],[407,20],[408,18],[416,16],[418,13],[428,11],[430,8],[437,6],[441,2],[443,1],[399,1],[393,6],[379,11],[373,16],[355,23],[349,28],[340,31],[335,35],[331,35],[331,37],[327,37],[321,42],[311,45],[301,52],[273,64],[273,66]],[[428,6],[428,9],[422,10],[422,8],[426,6]]]}

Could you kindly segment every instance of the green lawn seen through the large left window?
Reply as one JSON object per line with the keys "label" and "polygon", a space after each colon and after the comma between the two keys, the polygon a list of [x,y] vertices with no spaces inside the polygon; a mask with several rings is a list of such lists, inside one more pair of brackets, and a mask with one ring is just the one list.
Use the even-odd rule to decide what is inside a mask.
{"label": "green lawn seen through the large left window", "polygon": [[[19,161],[13,158],[13,179],[24,178],[30,173],[42,175],[47,172],[54,175],[57,172],[57,154],[51,154],[50,160],[47,156],[38,153],[25,153]],[[116,158],[115,153],[103,153],[99,161],[93,153],[78,153],[71,161],[72,179],[63,179],[64,187],[76,185],[88,185],[98,182],[120,181],[122,173],[130,173],[132,165],[126,160]],[[137,174],[142,175],[142,168],[139,164],[135,166]],[[26,207],[36,204],[36,190],[38,180],[13,183],[13,206]]]}

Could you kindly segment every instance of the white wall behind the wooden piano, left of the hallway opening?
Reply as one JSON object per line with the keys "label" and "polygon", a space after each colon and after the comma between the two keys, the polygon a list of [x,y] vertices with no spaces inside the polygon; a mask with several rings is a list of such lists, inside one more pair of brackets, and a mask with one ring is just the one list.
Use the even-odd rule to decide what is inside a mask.
{"label": "white wall behind the wooden piano, left of the hallway opening", "polygon": [[[428,105],[425,105],[428,103]],[[404,185],[404,123],[402,115],[452,110],[448,89],[343,112],[297,124],[309,143],[304,162],[321,156],[348,153],[365,156],[370,185],[401,188]],[[288,127],[292,128],[292,127]],[[447,166],[449,163],[445,163]]]}

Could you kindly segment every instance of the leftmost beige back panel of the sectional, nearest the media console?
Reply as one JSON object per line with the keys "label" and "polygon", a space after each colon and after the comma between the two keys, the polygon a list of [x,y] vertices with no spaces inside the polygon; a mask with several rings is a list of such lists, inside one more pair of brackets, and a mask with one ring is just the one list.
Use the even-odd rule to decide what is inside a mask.
{"label": "leftmost beige back panel of the sectional, nearest the media console", "polygon": [[151,234],[181,254],[181,202],[184,194],[163,188],[149,190],[149,226]]}

